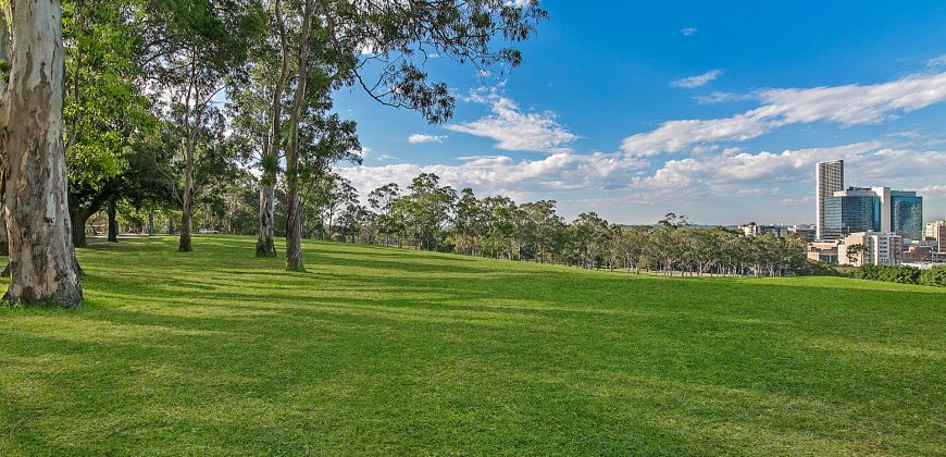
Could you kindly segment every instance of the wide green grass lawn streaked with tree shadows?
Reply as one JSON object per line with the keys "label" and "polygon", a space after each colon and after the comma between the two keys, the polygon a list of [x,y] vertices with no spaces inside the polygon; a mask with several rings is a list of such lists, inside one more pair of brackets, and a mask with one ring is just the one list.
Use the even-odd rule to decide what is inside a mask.
{"label": "wide green grass lawn streaked with tree shadows", "polygon": [[94,244],[83,308],[0,310],[0,455],[946,454],[946,289],[253,245]]}

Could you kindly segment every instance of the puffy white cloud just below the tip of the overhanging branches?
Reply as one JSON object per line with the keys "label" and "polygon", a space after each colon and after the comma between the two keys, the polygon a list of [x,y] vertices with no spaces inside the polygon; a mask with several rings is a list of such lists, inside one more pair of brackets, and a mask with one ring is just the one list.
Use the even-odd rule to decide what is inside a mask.
{"label": "puffy white cloud just below the tip of the overhanging branches", "polygon": [[551,111],[523,112],[514,101],[496,91],[473,92],[464,100],[488,104],[493,114],[473,122],[449,124],[446,128],[493,138],[496,148],[508,151],[561,152],[578,138],[556,120]]}

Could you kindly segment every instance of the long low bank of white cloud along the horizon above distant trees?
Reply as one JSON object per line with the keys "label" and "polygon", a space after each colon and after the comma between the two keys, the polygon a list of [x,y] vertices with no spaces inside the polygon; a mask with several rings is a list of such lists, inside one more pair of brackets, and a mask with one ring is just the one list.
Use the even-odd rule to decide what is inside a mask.
{"label": "long low bank of white cloud along the horizon above distant trees", "polygon": [[[814,164],[830,159],[845,160],[847,185],[918,190],[930,200],[932,212],[946,201],[939,185],[946,151],[909,149],[887,141],[781,152],[727,148],[658,163],[621,152],[557,152],[537,160],[472,156],[458,159],[456,164],[352,165],[338,172],[351,180],[362,196],[387,183],[406,186],[420,173],[434,173],[445,184],[458,189],[472,187],[480,196],[506,195],[519,201],[555,198],[563,211],[573,214],[593,208],[644,221],[648,219],[640,219],[639,207],[650,206],[646,211],[655,214],[685,209],[705,220],[729,223],[733,214],[786,217],[788,210],[779,206],[789,203],[798,208],[789,219],[804,220],[813,193]],[[701,202],[706,198],[715,199],[714,205]],[[717,203],[723,201],[727,201],[726,211],[736,212],[720,213]],[[744,206],[744,210],[738,209]],[[627,212],[628,208],[634,212]]]}

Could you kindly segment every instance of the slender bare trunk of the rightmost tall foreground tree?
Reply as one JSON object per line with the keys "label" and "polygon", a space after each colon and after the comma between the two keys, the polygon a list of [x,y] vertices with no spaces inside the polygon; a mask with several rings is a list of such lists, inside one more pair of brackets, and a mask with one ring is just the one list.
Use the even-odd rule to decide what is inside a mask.
{"label": "slender bare trunk of the rightmost tall foreground tree", "polygon": [[[314,13],[313,0],[306,0],[302,27],[299,32],[299,78],[292,99],[289,125],[289,143],[286,147],[286,190],[289,205],[286,208],[286,270],[306,271],[302,262],[302,206],[299,199],[299,120],[306,103],[306,81],[309,75],[309,28]],[[283,49],[283,52],[288,52]]]}

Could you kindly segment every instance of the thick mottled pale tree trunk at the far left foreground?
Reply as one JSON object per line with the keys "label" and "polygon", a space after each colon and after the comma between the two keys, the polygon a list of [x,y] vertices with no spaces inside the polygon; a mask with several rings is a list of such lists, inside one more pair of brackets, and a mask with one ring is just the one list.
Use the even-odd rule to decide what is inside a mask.
{"label": "thick mottled pale tree trunk at the far left foreground", "polygon": [[[83,292],[62,144],[62,8],[59,0],[13,0],[10,8],[13,55],[9,87],[0,84],[10,236],[4,299],[74,307]],[[7,27],[0,25],[0,59],[7,61]]]}

